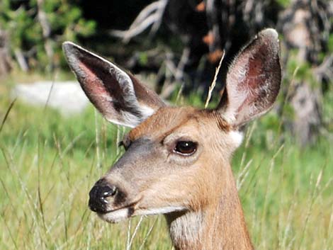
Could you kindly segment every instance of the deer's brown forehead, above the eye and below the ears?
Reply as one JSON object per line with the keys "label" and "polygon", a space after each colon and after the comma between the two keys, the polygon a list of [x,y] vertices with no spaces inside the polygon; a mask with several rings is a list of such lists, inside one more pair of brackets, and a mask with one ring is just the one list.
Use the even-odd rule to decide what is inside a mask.
{"label": "deer's brown forehead, above the eye and below the ears", "polygon": [[141,137],[151,140],[172,138],[197,140],[235,149],[242,142],[239,132],[232,130],[220,115],[211,110],[193,107],[162,107],[154,115],[132,129],[128,135],[131,141]]}

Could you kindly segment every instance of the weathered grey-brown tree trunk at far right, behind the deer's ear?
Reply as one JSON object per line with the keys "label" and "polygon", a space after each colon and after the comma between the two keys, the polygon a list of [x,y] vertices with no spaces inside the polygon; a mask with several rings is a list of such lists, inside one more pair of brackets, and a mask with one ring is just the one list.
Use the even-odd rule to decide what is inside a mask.
{"label": "weathered grey-brown tree trunk at far right, behind the deer's ear", "polygon": [[[310,65],[306,74],[303,72],[305,76],[296,76],[297,80],[290,80],[297,82],[290,95],[290,104],[294,111],[292,131],[295,140],[303,146],[316,141],[322,126],[324,75],[320,74],[322,67],[318,66],[320,53],[327,50],[327,33],[332,30],[332,23],[326,22],[329,20],[330,11],[332,10],[329,4],[324,1],[294,0],[279,18],[286,50],[298,50],[293,58],[289,53],[286,62],[294,59],[299,67]],[[309,73],[312,79],[317,81],[312,81]]]}

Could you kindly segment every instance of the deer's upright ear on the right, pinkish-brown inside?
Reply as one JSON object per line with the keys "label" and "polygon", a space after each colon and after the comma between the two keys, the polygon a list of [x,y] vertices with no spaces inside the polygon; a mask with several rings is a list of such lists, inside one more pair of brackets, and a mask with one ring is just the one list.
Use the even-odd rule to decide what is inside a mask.
{"label": "deer's upright ear on the right, pinkish-brown inside", "polygon": [[273,106],[280,84],[278,33],[268,28],[232,62],[218,110],[231,125],[243,125]]}

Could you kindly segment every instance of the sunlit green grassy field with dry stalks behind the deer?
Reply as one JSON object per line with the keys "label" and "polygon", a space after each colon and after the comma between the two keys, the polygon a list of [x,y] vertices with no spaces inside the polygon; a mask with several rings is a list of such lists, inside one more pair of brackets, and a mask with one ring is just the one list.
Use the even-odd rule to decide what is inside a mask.
{"label": "sunlit green grassy field with dry stalks behind the deer", "polygon": [[[19,80],[0,81],[0,127]],[[332,139],[300,149],[263,125],[272,117],[249,125],[232,165],[254,246],[333,249]],[[87,207],[124,132],[91,106],[63,118],[16,101],[0,128],[0,249],[172,249],[162,216],[109,225]]]}

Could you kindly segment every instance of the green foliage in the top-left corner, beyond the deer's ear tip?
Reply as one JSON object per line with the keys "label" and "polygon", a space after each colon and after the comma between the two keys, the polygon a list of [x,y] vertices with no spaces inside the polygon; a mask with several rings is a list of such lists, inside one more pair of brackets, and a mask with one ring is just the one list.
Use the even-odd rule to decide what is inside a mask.
{"label": "green foliage in the top-left corner, beyond the deer's ear tip", "polygon": [[[79,7],[68,0],[43,1],[40,11],[45,12],[50,24],[50,38],[43,37],[42,25],[38,19],[37,0],[23,1],[17,4],[11,0],[0,2],[0,28],[9,33],[11,52],[16,50],[29,52],[28,64],[40,70],[64,65],[61,44],[64,40],[77,41],[80,37],[94,34],[96,23],[82,18]],[[45,51],[45,42],[49,39],[54,52],[49,62]]]}

